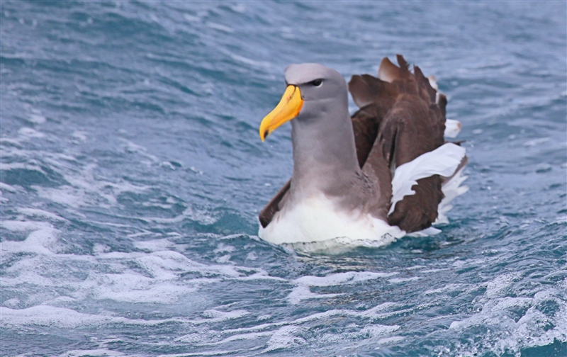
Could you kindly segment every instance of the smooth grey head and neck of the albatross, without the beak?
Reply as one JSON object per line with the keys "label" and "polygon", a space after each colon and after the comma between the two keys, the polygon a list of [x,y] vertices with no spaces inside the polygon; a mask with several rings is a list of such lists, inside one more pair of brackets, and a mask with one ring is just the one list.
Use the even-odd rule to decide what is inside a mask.
{"label": "smooth grey head and neck of the albatross, without the beak", "polygon": [[303,99],[301,111],[291,120],[291,196],[335,196],[360,174],[347,82],[335,69],[315,63],[291,64],[285,76]]}

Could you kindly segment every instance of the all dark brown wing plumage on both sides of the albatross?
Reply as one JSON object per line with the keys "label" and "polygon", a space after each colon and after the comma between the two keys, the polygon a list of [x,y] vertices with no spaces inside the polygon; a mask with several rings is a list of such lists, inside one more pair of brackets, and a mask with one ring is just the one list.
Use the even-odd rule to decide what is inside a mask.
{"label": "all dark brown wing plumage on both sides of the albatross", "polygon": [[[443,145],[447,98],[432,88],[419,67],[414,67],[412,74],[401,55],[398,64],[400,67],[384,58],[378,70],[380,78],[369,74],[352,77],[349,91],[360,108],[352,115],[352,127],[359,164],[366,176],[377,181],[380,191],[373,212],[390,225],[415,232],[430,227],[437,218],[443,198],[441,179],[418,180],[413,187],[415,195],[405,196],[388,217],[392,173],[395,166]],[[289,188],[290,181],[260,212],[262,227],[281,208]]]}

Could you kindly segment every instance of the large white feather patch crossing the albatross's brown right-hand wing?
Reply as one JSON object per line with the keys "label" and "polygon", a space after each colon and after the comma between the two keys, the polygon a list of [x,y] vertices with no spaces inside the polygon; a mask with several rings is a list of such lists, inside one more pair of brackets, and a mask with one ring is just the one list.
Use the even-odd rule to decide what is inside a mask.
{"label": "large white feather patch crossing the albatross's brown right-hand wing", "polygon": [[391,215],[395,204],[404,196],[415,195],[412,186],[417,185],[417,180],[433,175],[450,177],[461,164],[466,150],[458,145],[448,142],[432,152],[426,152],[411,162],[396,167],[392,180]]}

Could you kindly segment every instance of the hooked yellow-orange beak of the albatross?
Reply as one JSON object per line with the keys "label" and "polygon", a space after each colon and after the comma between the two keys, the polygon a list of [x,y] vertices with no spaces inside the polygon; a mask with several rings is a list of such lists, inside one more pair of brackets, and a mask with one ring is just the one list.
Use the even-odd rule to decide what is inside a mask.
{"label": "hooked yellow-orange beak of the albatross", "polygon": [[297,86],[289,85],[276,108],[262,119],[262,123],[260,123],[260,139],[264,141],[266,136],[270,135],[280,125],[296,118],[302,106],[301,91],[299,91]]}

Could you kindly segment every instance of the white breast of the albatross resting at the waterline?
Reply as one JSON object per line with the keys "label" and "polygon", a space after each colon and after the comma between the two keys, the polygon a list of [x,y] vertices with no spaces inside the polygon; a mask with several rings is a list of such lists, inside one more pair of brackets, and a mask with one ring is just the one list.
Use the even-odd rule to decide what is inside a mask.
{"label": "white breast of the albatross resting at the waterline", "polygon": [[380,241],[384,244],[403,237],[405,232],[383,220],[360,212],[338,210],[324,195],[301,200],[291,208],[276,212],[269,225],[260,225],[258,236],[275,244],[323,242],[337,237]]}

